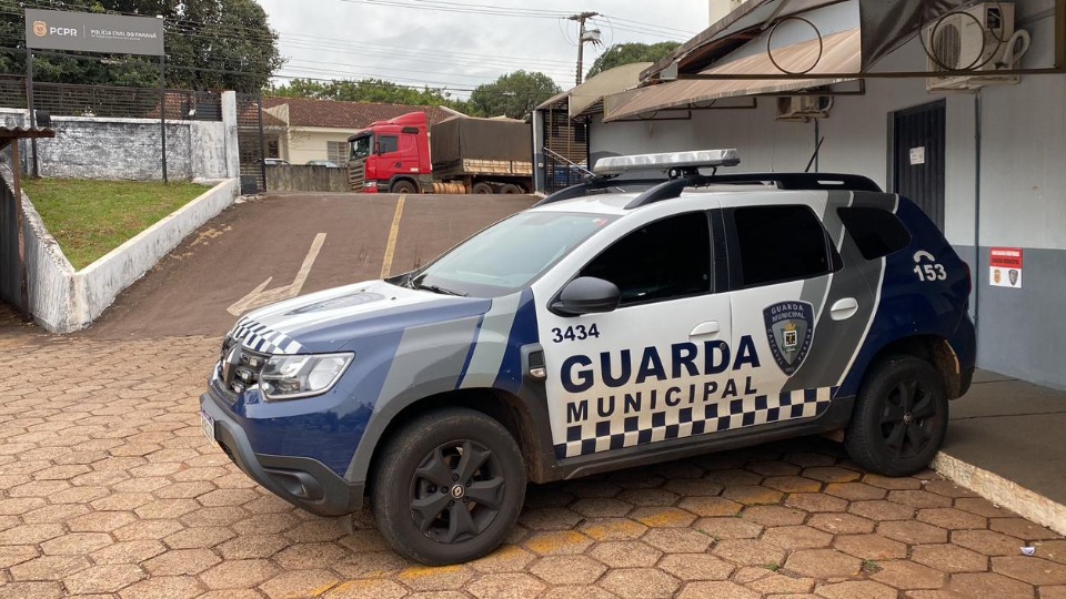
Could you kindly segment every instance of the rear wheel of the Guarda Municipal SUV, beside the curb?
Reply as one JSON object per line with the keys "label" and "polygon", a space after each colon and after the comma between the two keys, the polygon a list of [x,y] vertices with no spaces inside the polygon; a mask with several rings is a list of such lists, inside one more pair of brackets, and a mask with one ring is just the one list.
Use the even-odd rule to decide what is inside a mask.
{"label": "rear wheel of the Guarda Municipal SUV, beside the curb", "polygon": [[859,466],[909,476],[929,466],[947,433],[947,394],[939,373],[913,356],[891,356],[858,390],[844,446]]}

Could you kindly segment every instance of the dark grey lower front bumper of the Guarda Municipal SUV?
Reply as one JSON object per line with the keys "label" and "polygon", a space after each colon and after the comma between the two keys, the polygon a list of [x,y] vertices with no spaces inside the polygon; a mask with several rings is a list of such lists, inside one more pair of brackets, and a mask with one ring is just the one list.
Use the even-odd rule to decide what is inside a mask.
{"label": "dark grey lower front bumper of the Guarda Municipal SUV", "polygon": [[225,455],[274,495],[320,516],[341,516],[362,508],[362,483],[345,480],[315,459],[252,451],[244,430],[210,393],[200,396],[200,409],[214,419],[214,440]]}

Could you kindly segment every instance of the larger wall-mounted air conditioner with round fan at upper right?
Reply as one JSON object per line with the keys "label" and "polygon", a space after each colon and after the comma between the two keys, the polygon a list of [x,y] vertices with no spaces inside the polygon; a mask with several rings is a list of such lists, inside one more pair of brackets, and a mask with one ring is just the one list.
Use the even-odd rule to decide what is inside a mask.
{"label": "larger wall-mounted air conditioner with round fan at upper right", "polygon": [[996,71],[1014,69],[1029,42],[1024,31],[1015,33],[1014,4],[1006,2],[982,2],[951,12],[927,24],[922,35],[931,73],[973,73],[927,78],[928,91],[968,91],[990,83],[1017,83],[1018,75]]}

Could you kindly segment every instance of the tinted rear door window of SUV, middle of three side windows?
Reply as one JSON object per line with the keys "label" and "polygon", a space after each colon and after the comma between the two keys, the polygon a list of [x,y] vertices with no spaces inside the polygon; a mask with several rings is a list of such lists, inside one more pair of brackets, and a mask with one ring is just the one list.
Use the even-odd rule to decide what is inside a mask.
{"label": "tinted rear door window of SUV, middle of three side windows", "polygon": [[748,206],[732,214],[742,287],[821,276],[839,263],[821,221],[806,206]]}

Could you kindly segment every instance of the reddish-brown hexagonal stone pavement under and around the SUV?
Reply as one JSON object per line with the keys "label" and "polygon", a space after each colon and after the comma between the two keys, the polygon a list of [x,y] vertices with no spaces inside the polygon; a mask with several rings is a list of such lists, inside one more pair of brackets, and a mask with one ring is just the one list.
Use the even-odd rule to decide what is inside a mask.
{"label": "reddish-brown hexagonal stone pavement under and around the SUV", "polygon": [[531,487],[499,551],[421,567],[207,443],[218,343],[0,333],[0,597],[1066,598],[1066,539],[819,439]]}

